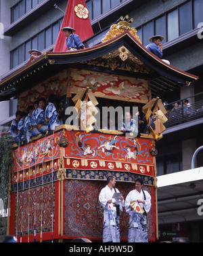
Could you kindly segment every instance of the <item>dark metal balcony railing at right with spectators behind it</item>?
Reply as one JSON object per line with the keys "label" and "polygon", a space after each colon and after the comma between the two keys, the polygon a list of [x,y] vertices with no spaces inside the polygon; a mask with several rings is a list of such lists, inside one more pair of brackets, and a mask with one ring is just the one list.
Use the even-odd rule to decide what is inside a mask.
{"label": "dark metal balcony railing at right with spectators behind it", "polygon": [[[185,104],[185,100],[189,100],[188,105]],[[203,117],[203,92],[195,94],[189,98],[184,98],[177,102],[170,103],[166,105],[166,109],[168,111],[166,113],[168,121],[164,124],[166,128],[198,120]]]}

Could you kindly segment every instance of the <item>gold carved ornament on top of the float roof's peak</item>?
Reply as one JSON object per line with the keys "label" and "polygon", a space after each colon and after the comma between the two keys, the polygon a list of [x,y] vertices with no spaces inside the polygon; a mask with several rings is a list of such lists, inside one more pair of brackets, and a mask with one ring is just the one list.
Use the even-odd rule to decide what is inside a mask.
{"label": "gold carved ornament on top of the float roof's peak", "polygon": [[125,16],[125,18],[121,16],[117,24],[112,24],[112,26],[110,26],[110,31],[106,33],[106,37],[104,37],[101,40],[101,42],[104,43],[116,37],[117,35],[120,35],[120,33],[128,30],[131,33],[131,35],[133,35],[133,37],[135,37],[139,41],[139,43],[141,43],[139,36],[137,35],[137,29],[131,28],[131,22],[133,22],[133,18],[131,18],[130,20],[128,19],[129,19],[128,15]]}

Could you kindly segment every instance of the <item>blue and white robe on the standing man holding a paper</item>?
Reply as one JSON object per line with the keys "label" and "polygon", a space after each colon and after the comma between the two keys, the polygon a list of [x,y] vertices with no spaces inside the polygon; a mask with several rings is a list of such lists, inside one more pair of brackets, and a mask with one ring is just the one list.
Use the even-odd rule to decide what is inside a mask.
{"label": "blue and white robe on the standing man holding a paper", "polygon": [[[118,189],[116,192],[119,193]],[[120,242],[120,219],[116,215],[116,207],[113,203],[108,204],[108,200],[114,201],[114,188],[111,190],[108,185],[101,189],[99,194],[99,203],[104,208],[104,223],[103,223],[103,242]],[[124,200],[120,205],[120,211],[124,206]]]}

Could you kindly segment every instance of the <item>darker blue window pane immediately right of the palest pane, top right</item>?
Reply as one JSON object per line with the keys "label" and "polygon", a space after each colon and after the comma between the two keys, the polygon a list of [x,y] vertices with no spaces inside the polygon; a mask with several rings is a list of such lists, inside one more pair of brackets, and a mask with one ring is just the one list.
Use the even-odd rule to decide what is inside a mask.
{"label": "darker blue window pane immediately right of the palest pane, top right", "polygon": [[179,7],[180,35],[192,30],[191,2]]}

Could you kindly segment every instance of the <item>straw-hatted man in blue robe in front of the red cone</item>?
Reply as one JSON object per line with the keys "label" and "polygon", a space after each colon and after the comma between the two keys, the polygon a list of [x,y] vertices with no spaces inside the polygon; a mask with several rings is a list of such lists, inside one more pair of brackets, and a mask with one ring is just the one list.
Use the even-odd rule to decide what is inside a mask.
{"label": "straw-hatted man in blue robe in front of the red cone", "polygon": [[65,26],[61,29],[64,34],[66,35],[66,45],[68,48],[68,51],[75,51],[80,49],[85,49],[85,45],[82,43],[81,39],[78,35],[73,34],[75,32],[75,29],[72,29],[70,26]]}

